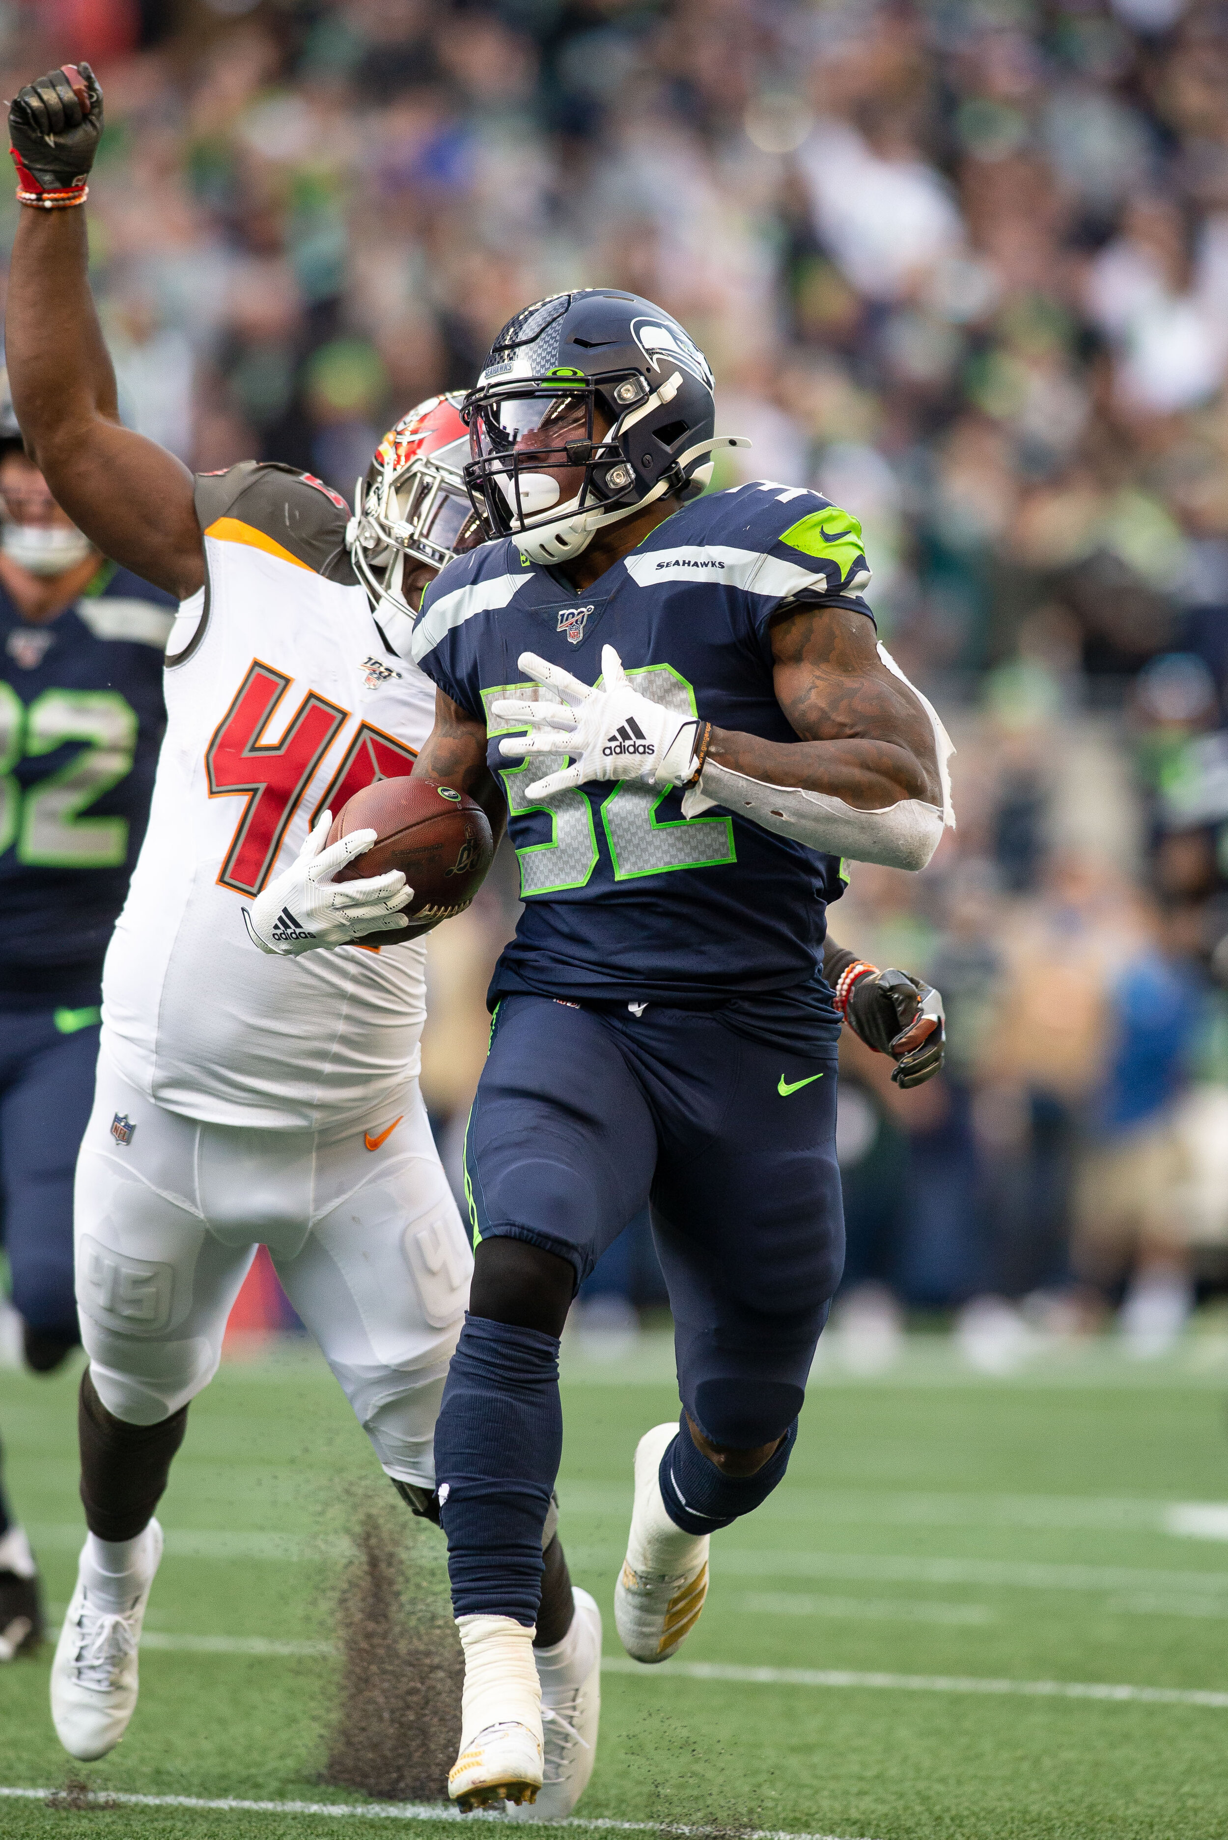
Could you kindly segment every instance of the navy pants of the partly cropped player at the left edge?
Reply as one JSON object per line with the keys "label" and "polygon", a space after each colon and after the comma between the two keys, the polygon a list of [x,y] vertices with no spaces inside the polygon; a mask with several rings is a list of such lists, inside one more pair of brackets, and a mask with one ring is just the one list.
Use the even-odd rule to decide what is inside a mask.
{"label": "navy pants of the partly cropped player at the left edge", "polygon": [[[98,1021],[85,1010],[0,1010],[0,1236],[13,1306],[77,1340],[72,1179],[94,1104]],[[59,1018],[59,1023],[57,1023]]]}

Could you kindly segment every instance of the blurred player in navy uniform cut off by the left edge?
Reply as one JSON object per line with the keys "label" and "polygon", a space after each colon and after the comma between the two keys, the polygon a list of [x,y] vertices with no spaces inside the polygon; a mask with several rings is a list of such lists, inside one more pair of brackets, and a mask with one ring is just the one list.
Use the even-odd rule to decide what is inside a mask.
{"label": "blurred player in navy uniform cut off by the left edge", "polygon": [[[26,1362],[81,1336],[72,1174],[94,1100],[101,966],[166,727],[175,600],[105,561],[22,449],[0,372],[0,1233]],[[42,1630],[0,1487],[0,1660]]]}

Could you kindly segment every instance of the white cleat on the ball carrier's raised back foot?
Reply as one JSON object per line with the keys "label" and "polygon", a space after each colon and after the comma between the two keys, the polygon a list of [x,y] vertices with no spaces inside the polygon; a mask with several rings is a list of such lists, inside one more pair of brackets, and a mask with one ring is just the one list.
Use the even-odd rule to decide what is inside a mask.
{"label": "white cleat on the ball carrier's raised back foot", "polygon": [[665,1512],[657,1470],[676,1424],[655,1424],[635,1446],[635,1507],[615,1623],[637,1662],[668,1662],[700,1621],[707,1597],[707,1533],[683,1533]]}

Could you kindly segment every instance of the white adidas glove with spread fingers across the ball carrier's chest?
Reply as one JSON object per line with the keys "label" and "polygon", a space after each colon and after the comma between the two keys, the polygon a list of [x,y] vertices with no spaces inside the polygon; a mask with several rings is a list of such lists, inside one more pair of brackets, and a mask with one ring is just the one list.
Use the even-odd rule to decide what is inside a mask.
{"label": "white adidas glove with spread fingers across the ball carrier's chest", "polygon": [[525,696],[493,703],[503,721],[527,723],[528,734],[499,742],[508,760],[527,754],[571,754],[571,765],[528,786],[530,799],[549,799],[591,780],[652,780],[681,786],[694,775],[700,723],[674,708],[650,703],[631,688],[622,659],[602,646],[602,684],[582,684],[560,664],[547,664],[536,651],[521,651],[519,668],[536,683],[558,690],[562,703],[528,701]]}

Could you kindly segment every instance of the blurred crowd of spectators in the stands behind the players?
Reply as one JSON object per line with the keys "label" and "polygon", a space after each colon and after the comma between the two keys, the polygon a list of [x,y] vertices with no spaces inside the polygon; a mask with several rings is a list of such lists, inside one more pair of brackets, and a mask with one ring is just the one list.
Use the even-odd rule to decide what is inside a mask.
{"label": "blurred crowd of spectators in the stands behind the players", "polygon": [[[832,911],[950,1016],[917,1093],[849,1052],[845,1316],[1167,1345],[1228,1281],[1228,6],[0,4],[4,94],[68,55],[123,412],[191,466],[350,497],[514,309],[613,283],[751,436],[716,486],[862,519],[959,830]],[[453,1161],[514,868],[433,946]],[[598,1279],[659,1301],[643,1233]]]}

